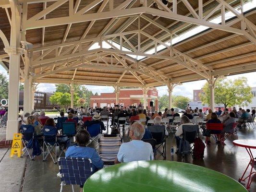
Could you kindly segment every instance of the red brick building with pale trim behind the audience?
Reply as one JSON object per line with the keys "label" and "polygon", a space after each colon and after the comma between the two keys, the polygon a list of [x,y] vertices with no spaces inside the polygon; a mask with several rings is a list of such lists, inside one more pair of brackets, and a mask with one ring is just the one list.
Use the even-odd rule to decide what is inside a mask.
{"label": "red brick building with pale trim behind the audience", "polygon": [[[140,102],[143,103],[143,91],[141,88],[124,88],[120,89],[120,94],[118,98],[118,104],[123,107],[129,108],[129,106],[138,106]],[[91,96],[90,106],[103,108],[107,106],[108,108],[114,107],[117,103],[115,93],[101,93],[99,96]],[[153,101],[153,107],[151,110],[158,108],[158,91],[156,88],[151,88],[147,91],[147,109],[150,109],[149,102]],[[142,105],[143,106],[143,105]]]}

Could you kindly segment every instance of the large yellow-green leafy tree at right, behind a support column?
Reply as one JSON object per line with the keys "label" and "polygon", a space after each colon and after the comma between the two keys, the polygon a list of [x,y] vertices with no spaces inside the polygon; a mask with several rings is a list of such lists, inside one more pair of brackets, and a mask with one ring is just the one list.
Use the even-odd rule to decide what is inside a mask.
{"label": "large yellow-green leafy tree at right, behind a support column", "polygon": [[[246,77],[238,79],[219,79],[215,84],[214,90],[215,103],[223,104],[225,108],[238,105],[240,107],[247,106],[252,102],[253,94],[251,87],[247,84]],[[210,89],[209,84],[203,86],[203,94],[199,95],[203,104],[210,105]]]}

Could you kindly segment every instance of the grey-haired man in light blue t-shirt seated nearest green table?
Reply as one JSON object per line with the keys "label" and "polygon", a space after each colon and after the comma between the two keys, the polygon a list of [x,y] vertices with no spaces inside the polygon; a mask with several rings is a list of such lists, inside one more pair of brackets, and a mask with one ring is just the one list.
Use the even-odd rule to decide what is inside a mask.
{"label": "grey-haired man in light blue t-shirt seated nearest green table", "polygon": [[125,163],[154,159],[151,144],[141,141],[144,133],[145,129],[143,128],[142,124],[134,122],[131,125],[129,137],[132,139],[132,141],[121,144],[115,160],[116,164],[120,162]]}

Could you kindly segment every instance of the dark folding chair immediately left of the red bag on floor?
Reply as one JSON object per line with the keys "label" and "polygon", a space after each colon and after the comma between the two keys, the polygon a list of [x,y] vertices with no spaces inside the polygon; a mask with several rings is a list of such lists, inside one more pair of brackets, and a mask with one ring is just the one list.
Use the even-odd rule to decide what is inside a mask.
{"label": "dark folding chair immediately left of the red bag on floor", "polygon": [[[194,149],[195,139],[196,139],[196,137],[199,137],[199,126],[198,125],[183,125],[182,130],[183,130],[183,139],[188,141],[189,144],[192,144],[192,146],[190,146],[190,149],[191,149],[190,153],[192,153],[193,149]],[[183,157],[184,157],[184,155],[183,155]]]}

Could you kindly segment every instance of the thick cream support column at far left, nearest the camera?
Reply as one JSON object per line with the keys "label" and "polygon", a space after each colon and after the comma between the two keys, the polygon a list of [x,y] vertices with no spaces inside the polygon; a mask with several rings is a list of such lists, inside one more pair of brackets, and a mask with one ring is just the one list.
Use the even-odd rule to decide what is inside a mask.
{"label": "thick cream support column at far left, nearest the camera", "polygon": [[10,55],[9,65],[9,96],[8,96],[8,120],[6,140],[12,140],[13,134],[18,132],[18,110],[19,110],[19,85],[20,85],[20,30],[21,12],[20,5],[10,1],[12,10],[11,47],[5,51]]}

